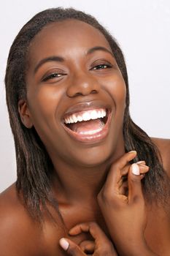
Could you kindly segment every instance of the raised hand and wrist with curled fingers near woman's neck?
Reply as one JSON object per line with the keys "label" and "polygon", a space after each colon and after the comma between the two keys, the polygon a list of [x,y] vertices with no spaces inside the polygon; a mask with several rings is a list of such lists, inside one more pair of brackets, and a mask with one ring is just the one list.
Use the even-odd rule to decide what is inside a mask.
{"label": "raised hand and wrist with curled fingers near woman's neck", "polygon": [[[98,194],[98,204],[112,241],[120,255],[154,255],[147,247],[144,229],[147,223],[141,179],[149,167],[130,165],[136,151],[126,153],[111,167],[107,181]],[[128,174],[128,192],[123,176]],[[150,254],[151,253],[151,254]]]}

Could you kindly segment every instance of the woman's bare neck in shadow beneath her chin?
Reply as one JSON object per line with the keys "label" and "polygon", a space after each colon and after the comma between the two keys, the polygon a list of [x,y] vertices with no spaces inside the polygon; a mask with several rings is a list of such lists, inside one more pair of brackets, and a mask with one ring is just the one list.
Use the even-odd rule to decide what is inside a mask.
{"label": "woman's bare neck in shadow beneath her chin", "polygon": [[93,202],[104,185],[110,165],[124,154],[124,148],[106,162],[89,167],[53,159],[53,191],[58,203]]}

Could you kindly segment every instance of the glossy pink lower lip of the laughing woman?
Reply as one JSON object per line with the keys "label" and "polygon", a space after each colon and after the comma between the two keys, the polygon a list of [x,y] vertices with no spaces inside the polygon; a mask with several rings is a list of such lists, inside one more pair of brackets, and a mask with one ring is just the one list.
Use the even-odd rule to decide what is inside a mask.
{"label": "glossy pink lower lip of the laughing woman", "polygon": [[81,135],[77,132],[73,132],[72,129],[67,128],[64,124],[63,124],[63,128],[74,140],[78,140],[83,143],[96,143],[96,142],[100,142],[101,140],[107,137],[109,133],[110,121],[111,121],[111,113],[108,113],[107,123],[104,125],[104,127],[101,129],[100,132],[96,132],[93,135]]}

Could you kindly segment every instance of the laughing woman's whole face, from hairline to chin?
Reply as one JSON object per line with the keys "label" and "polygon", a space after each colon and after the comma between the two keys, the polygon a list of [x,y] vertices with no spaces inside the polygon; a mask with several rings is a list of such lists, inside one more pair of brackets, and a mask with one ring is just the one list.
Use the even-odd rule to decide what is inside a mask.
{"label": "laughing woman's whole face, from hairline to chin", "polygon": [[26,84],[27,113],[52,159],[93,166],[122,150],[125,82],[93,26],[64,20],[42,29]]}

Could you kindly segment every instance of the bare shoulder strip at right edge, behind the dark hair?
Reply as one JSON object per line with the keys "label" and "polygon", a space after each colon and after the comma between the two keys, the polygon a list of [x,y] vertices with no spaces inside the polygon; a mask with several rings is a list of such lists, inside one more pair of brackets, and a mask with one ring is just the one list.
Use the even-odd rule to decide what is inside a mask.
{"label": "bare shoulder strip at right edge, behind the dark hair", "polygon": [[170,139],[151,138],[158,147],[163,160],[163,167],[170,176]]}

